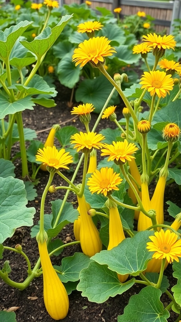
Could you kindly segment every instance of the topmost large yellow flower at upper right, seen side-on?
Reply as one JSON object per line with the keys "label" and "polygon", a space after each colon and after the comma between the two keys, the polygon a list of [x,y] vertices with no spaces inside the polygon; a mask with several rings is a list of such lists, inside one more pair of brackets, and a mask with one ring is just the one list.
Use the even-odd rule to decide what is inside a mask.
{"label": "topmost large yellow flower at upper right, seen side-on", "polygon": [[143,36],[142,39],[146,44],[151,45],[153,48],[158,49],[170,49],[172,48],[174,50],[174,47],[176,45],[176,41],[174,40],[174,36],[168,35],[168,36],[160,36],[156,33],[149,33],[147,36]]}

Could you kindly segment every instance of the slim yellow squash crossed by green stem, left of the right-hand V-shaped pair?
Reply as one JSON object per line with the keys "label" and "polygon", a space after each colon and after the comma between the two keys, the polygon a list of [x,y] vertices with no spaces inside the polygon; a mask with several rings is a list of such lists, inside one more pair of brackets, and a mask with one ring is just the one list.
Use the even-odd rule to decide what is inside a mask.
{"label": "slim yellow squash crossed by green stem, left of the right-hand V-shaped pair", "polygon": [[[148,184],[146,182],[143,182],[141,184],[141,194],[143,208],[148,212],[151,209],[151,207],[149,200]],[[151,219],[140,211],[138,219],[138,232],[146,230],[150,226],[152,226]]]}

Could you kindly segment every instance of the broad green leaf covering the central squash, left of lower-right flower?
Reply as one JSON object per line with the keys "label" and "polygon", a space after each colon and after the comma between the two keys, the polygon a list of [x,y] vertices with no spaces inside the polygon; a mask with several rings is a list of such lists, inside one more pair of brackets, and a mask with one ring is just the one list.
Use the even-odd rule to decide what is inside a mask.
{"label": "broad green leaf covering the central squash, left of lower-right flower", "polygon": [[148,261],[152,258],[153,253],[146,249],[151,235],[153,232],[150,231],[138,232],[134,237],[123,240],[117,247],[110,251],[100,251],[91,259],[101,265],[108,265],[110,270],[118,274],[137,276],[147,268]]}

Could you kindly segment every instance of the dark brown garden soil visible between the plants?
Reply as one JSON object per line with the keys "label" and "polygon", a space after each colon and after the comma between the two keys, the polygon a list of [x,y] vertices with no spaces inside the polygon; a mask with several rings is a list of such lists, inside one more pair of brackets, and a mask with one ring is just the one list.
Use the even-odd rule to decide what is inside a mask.
{"label": "dark brown garden soil visible between the plants", "polygon": [[[67,120],[65,125],[76,126],[79,130],[83,130],[83,125],[77,118],[73,118],[70,113],[70,108],[67,107],[66,102],[71,97],[71,90],[64,88],[63,86],[58,87],[58,96],[56,98],[57,106],[55,108],[46,109],[41,106],[36,106],[34,111],[25,110],[23,112],[24,127],[35,129],[36,131],[41,131],[50,128],[55,123],[63,123]],[[120,104],[117,108],[117,118],[118,120],[122,117],[123,104]],[[92,114],[92,120],[90,123],[93,125],[97,119],[96,114]],[[62,125],[63,126],[63,125]],[[114,122],[109,120],[101,120],[97,128],[99,132],[102,128],[116,128]],[[42,142],[45,141],[48,131],[38,132],[38,139]],[[30,167],[31,170],[31,167]],[[21,166],[20,160],[16,161],[16,177],[21,178]],[[67,175],[67,173],[66,173]],[[40,203],[43,189],[48,181],[48,173],[39,171],[38,177],[40,178],[40,183],[36,186],[38,196],[35,200],[28,203],[28,206],[36,208],[36,214],[34,216],[34,224],[37,224],[39,220]],[[79,180],[81,179],[81,171],[79,174]],[[71,178],[71,174],[70,174]],[[53,184],[60,183],[60,177],[55,176]],[[80,181],[79,181],[80,182]],[[63,199],[64,192],[58,190],[57,194],[48,194],[45,202],[45,213],[51,212],[50,202],[57,198]],[[165,191],[165,201],[170,200],[181,207],[180,191],[176,184],[171,184],[166,187]],[[76,201],[76,198],[70,194],[67,201]],[[165,208],[165,213],[167,213],[167,207]],[[169,219],[167,219],[169,220]],[[19,228],[15,231],[14,236],[8,239],[5,244],[14,247],[17,243],[23,246],[23,251],[28,255],[32,267],[38,259],[38,247],[35,238],[30,237],[30,227]],[[64,243],[74,241],[73,235],[73,224],[67,225],[60,233],[60,238]],[[74,245],[73,247],[67,247],[64,249],[61,255],[52,256],[52,263],[55,265],[60,265],[61,259],[66,256],[73,255],[74,252],[81,252],[80,245]],[[22,259],[22,256],[15,254],[14,252],[5,251],[4,260],[9,260],[12,273],[11,279],[21,282],[26,278],[26,262]],[[4,260],[0,262],[2,265]],[[172,276],[172,267],[168,265],[165,274],[168,276],[170,281],[170,291],[171,287],[176,284],[176,279]],[[106,302],[102,304],[89,302],[87,298],[81,296],[81,292],[73,291],[69,295],[70,308],[68,315],[63,322],[84,322],[84,321],[101,321],[101,322],[114,322],[117,321],[118,315],[123,314],[124,307],[128,304],[131,295],[138,294],[142,287],[138,284],[134,285],[127,292],[122,295],[117,295],[114,298],[109,298]],[[164,306],[169,304],[170,300],[166,295],[162,296],[162,302]],[[18,289],[13,289],[6,285],[2,280],[0,281],[0,310],[8,309],[11,307],[18,307],[16,310],[16,320],[17,322],[53,322],[54,320],[48,315],[44,302],[43,302],[43,279],[42,277],[34,279],[30,286],[19,291]],[[177,314],[171,311],[171,316],[168,319],[169,322],[173,322],[177,318]],[[2,321],[4,322],[4,321]],[[131,321],[130,321],[131,322]],[[140,321],[141,322],[141,321]]]}

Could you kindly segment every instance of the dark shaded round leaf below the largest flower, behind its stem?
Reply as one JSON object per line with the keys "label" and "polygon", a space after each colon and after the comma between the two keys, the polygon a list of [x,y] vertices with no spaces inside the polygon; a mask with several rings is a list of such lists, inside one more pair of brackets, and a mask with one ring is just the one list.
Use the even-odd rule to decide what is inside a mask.
{"label": "dark shaded round leaf below the largest flower, behind its stem", "polygon": [[[100,113],[112,89],[112,84],[103,75],[95,79],[85,79],[79,84],[75,93],[75,99],[77,102],[82,101],[84,104],[93,104],[95,107],[94,112]],[[115,91],[109,101],[109,106],[116,102],[117,96],[118,92]]]}

